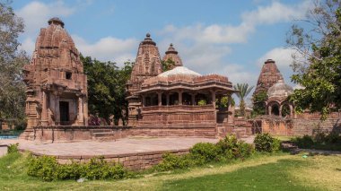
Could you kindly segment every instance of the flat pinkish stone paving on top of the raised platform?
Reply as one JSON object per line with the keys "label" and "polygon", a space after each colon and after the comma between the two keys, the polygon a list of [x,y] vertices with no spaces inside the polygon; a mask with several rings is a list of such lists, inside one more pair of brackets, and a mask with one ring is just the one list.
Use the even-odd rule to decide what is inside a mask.
{"label": "flat pinkish stone paving on top of the raised platform", "polygon": [[1,144],[19,143],[20,149],[56,156],[110,155],[139,152],[161,152],[189,149],[196,143],[217,143],[209,138],[123,138],[117,141],[83,141],[74,143],[39,143],[20,139],[0,140]]}

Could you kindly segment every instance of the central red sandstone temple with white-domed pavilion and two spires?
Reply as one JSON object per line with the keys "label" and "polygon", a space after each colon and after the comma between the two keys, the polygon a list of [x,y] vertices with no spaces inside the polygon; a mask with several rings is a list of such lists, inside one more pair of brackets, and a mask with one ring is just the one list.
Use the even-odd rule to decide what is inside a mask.
{"label": "central red sandstone temple with white-domed pavilion and two spires", "polygon": [[[129,107],[134,107],[129,109],[133,111],[129,113],[129,119],[133,119],[133,122],[129,121],[129,126],[148,129],[148,135],[154,131],[159,136],[188,133],[214,136],[219,124],[232,123],[232,104],[224,109],[218,107],[223,97],[232,100],[232,93],[235,92],[226,76],[202,75],[188,69],[183,66],[172,44],[162,60],[170,59],[174,65],[162,73],[157,50],[156,43],[147,34],[138,49],[132,80],[127,83]],[[152,56],[156,59],[151,60]],[[139,72],[137,76],[136,71]],[[143,71],[144,74],[141,74]]]}

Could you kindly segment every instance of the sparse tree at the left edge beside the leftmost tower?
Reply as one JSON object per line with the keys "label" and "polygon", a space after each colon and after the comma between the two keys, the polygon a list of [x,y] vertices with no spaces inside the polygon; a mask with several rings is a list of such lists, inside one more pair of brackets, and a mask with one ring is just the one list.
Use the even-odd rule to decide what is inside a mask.
{"label": "sparse tree at the left edge beside the leftmost tower", "polygon": [[25,85],[22,66],[29,63],[25,52],[18,51],[22,18],[13,12],[10,1],[0,2],[0,118],[25,123]]}

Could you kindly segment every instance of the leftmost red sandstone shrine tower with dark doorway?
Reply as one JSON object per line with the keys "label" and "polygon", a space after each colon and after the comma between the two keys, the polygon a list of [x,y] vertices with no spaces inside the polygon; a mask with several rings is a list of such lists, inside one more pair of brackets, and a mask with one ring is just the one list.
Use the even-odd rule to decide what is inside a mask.
{"label": "leftmost red sandstone shrine tower with dark doorway", "polygon": [[58,18],[40,30],[30,65],[25,65],[27,129],[86,126],[87,78],[74,40]]}

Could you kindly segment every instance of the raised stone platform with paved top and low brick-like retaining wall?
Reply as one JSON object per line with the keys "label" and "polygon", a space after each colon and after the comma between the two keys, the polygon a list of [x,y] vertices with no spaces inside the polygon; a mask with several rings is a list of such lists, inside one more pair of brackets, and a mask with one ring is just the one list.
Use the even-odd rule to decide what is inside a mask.
{"label": "raised stone platform with paved top and low brick-like retaining wall", "polygon": [[162,161],[162,154],[185,154],[196,143],[217,143],[210,138],[149,138],[130,137],[117,141],[80,141],[72,143],[41,143],[21,139],[0,140],[0,144],[19,143],[22,152],[33,155],[51,155],[60,163],[87,162],[92,157],[103,156],[106,161],[116,161],[127,169],[148,169]]}

